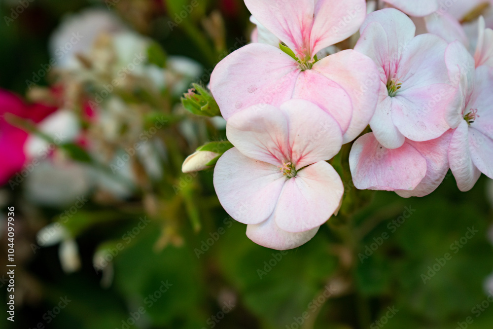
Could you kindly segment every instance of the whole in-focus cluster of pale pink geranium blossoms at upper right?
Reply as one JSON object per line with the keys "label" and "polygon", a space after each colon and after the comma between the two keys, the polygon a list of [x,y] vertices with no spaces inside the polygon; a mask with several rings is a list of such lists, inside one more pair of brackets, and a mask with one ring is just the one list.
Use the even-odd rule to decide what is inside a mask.
{"label": "whole in-focus cluster of pale pink geranium blossoms at upper right", "polygon": [[234,146],[214,187],[252,241],[295,248],[337,214],[330,160],[355,139],[358,189],[424,196],[449,169],[463,191],[493,178],[493,31],[471,2],[245,0],[253,43],[210,89]]}

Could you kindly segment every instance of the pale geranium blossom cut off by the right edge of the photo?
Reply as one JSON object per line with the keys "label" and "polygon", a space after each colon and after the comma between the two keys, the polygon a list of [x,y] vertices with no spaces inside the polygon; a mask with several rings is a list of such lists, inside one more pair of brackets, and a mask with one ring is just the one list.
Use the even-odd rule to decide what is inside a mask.
{"label": "pale geranium blossom cut off by the right edge of the photo", "polygon": [[[460,65],[451,59],[457,54]],[[474,59],[458,42],[451,44],[446,60],[460,75],[458,85],[464,96],[462,106],[446,116],[456,128],[449,147],[450,169],[458,188],[467,191],[481,173],[493,178],[493,69],[474,69]]]}

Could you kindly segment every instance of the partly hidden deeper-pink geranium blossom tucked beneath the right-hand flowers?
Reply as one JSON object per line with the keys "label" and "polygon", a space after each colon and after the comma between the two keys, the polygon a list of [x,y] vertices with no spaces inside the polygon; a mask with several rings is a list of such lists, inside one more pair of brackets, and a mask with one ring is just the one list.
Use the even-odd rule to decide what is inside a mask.
{"label": "partly hidden deeper-pink geranium blossom tucked beneath the right-hand flowers", "polygon": [[449,170],[452,130],[427,142],[407,140],[395,149],[380,145],[373,133],[356,140],[349,163],[354,186],[395,191],[402,197],[425,196],[442,183]]}

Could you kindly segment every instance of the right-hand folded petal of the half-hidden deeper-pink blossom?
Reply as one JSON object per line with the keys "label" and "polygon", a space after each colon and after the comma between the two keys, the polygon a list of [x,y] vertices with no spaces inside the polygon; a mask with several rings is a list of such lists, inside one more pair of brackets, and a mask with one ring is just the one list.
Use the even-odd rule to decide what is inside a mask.
{"label": "right-hand folded petal of the half-hidden deeper-pink blossom", "polygon": [[423,197],[437,189],[449,171],[448,151],[453,133],[453,130],[449,130],[439,138],[428,142],[406,142],[426,159],[426,176],[412,191],[395,191],[398,195],[404,198]]}

